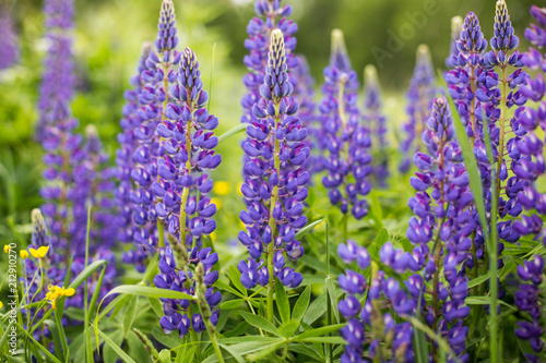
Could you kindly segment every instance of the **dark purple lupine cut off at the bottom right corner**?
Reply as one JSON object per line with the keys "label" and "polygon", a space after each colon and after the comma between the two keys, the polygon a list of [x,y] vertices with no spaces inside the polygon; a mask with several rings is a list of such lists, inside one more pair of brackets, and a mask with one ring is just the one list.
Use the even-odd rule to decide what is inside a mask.
{"label": "dark purple lupine cut off at the bottom right corner", "polygon": [[532,362],[538,362],[538,354],[544,349],[544,342],[541,339],[544,327],[541,325],[542,305],[539,303],[539,286],[543,274],[544,259],[538,255],[535,255],[531,261],[524,261],[523,265],[518,266],[518,275],[524,282],[520,285],[519,290],[515,292],[515,306],[523,312],[527,312],[531,322],[519,322],[515,336],[531,342],[531,347],[537,353],[537,356],[526,356]]}

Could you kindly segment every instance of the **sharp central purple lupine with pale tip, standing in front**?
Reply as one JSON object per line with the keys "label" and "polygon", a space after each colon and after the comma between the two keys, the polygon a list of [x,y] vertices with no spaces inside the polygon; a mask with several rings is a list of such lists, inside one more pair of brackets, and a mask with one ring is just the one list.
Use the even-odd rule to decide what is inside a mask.
{"label": "sharp central purple lupine with pale tip, standing in front", "polygon": [[301,283],[301,274],[285,266],[285,256],[295,261],[302,255],[304,247],[295,237],[307,222],[302,215],[309,181],[302,168],[309,156],[307,130],[295,116],[298,102],[290,97],[294,87],[287,69],[283,32],[274,29],[261,98],[252,107],[249,138],[242,145],[248,156],[241,186],[247,210],[240,213],[240,219],[247,231],[239,232],[239,241],[251,258],[238,265],[247,289],[268,287],[268,318],[272,323],[275,277],[287,287]]}

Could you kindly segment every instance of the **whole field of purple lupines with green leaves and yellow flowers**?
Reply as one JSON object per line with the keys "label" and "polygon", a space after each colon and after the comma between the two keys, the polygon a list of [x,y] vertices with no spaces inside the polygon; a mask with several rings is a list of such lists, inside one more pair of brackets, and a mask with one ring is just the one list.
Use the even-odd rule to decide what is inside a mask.
{"label": "whole field of purple lupines with green leaves and yellow flowers", "polygon": [[[526,29],[505,0],[492,29],[453,17],[446,68],[419,46],[390,120],[340,29],[313,80],[289,2],[256,1],[240,123],[219,133],[209,55],[163,0],[110,157],[71,110],[73,0],[44,1],[43,204],[28,247],[3,246],[3,361],[546,362],[546,8]],[[238,184],[217,171],[227,143]]]}

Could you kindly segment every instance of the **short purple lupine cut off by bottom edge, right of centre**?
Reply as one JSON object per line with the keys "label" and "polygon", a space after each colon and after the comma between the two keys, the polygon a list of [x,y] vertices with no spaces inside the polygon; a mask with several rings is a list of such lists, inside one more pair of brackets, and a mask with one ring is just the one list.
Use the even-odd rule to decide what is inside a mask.
{"label": "short purple lupine cut off by bottom edge, right of centre", "polygon": [[[390,256],[397,256],[395,258],[399,259],[404,254],[403,251],[394,250],[390,242],[385,243],[381,250],[381,263],[390,267],[392,267],[392,261],[389,262]],[[399,316],[414,314],[418,297],[425,300],[423,279],[420,279],[420,286],[417,287],[420,276],[415,275],[415,278],[411,278],[415,281],[413,287],[417,287],[415,294],[405,292],[394,278],[387,278],[383,271],[372,273],[377,275],[371,276],[368,287],[363,271],[370,264],[377,264],[371,262],[368,251],[358,246],[354,241],[347,240],[346,244],[339,245],[337,253],[345,263],[356,262],[359,268],[359,271],[346,269],[339,277],[340,287],[346,295],[340,301],[337,308],[347,320],[347,325],[340,329],[340,335],[347,342],[340,362],[365,362],[363,356],[371,360],[379,356],[384,360],[396,358],[404,362],[413,362],[412,325],[410,323],[396,324],[388,310],[391,307]],[[404,271],[405,269],[402,270]],[[368,291],[367,299],[361,302],[366,290]],[[410,285],[407,290],[410,290]]]}

